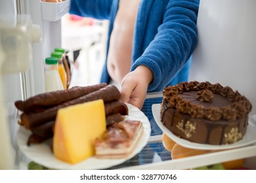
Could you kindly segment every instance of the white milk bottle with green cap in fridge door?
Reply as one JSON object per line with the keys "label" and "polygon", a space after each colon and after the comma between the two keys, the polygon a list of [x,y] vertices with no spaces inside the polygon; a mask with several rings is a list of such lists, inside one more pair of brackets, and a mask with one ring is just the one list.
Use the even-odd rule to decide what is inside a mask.
{"label": "white milk bottle with green cap in fridge door", "polygon": [[60,74],[58,73],[58,59],[45,59],[45,92],[64,90]]}

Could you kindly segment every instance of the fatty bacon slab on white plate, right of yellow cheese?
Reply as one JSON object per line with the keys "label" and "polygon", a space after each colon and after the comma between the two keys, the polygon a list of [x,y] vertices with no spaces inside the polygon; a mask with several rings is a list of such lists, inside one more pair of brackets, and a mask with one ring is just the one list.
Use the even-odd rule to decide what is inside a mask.
{"label": "fatty bacon slab on white plate, right of yellow cheese", "polygon": [[123,120],[112,124],[95,141],[96,158],[125,158],[133,152],[142,136],[142,124],[139,121]]}

